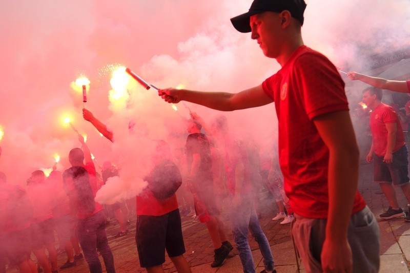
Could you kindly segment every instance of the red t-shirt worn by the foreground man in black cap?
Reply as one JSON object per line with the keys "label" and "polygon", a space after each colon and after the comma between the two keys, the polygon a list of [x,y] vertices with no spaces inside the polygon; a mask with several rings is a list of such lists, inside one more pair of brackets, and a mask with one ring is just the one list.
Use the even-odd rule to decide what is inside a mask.
{"label": "red t-shirt worn by the foreground man in black cap", "polygon": [[[348,111],[344,82],[329,59],[301,46],[262,88],[275,101],[279,163],[290,205],[303,217],[327,218],[329,149],[313,118]],[[365,205],[356,192],[352,214]]]}

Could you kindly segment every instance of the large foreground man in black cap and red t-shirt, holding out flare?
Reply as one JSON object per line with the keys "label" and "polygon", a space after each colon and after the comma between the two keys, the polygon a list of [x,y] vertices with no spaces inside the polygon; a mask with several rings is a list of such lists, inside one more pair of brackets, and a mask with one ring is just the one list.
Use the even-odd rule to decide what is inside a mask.
{"label": "large foreground man in black cap and red t-shirt, holding out flare", "polygon": [[[231,19],[282,67],[261,85],[239,93],[169,88],[158,95],[221,111],[274,102],[279,163],[294,209],[292,235],[306,270],[377,272],[379,229],[357,191],[359,149],[344,82],[329,59],[304,46],[305,7],[303,0],[254,0],[247,13]],[[355,233],[359,226],[366,238]]]}

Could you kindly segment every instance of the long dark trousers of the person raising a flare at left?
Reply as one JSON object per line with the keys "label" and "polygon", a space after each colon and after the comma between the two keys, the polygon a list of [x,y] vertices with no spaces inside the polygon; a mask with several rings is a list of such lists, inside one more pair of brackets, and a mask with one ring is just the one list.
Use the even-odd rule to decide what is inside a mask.
{"label": "long dark trousers of the person raising a flare at left", "polygon": [[77,237],[91,273],[103,272],[97,249],[103,256],[107,273],[115,273],[114,257],[108,245],[103,211],[99,211],[86,219],[77,220]]}

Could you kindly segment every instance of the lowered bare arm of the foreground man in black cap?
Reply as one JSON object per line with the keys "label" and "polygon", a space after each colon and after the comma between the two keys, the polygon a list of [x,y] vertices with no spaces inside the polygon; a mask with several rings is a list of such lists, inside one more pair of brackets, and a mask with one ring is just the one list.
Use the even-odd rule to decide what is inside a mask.
{"label": "lowered bare arm of the foreground man in black cap", "polygon": [[355,132],[348,111],[323,114],[313,121],[329,149],[329,212],[321,253],[322,267],[324,272],[352,272],[353,258],[347,241],[347,228],[359,176]]}

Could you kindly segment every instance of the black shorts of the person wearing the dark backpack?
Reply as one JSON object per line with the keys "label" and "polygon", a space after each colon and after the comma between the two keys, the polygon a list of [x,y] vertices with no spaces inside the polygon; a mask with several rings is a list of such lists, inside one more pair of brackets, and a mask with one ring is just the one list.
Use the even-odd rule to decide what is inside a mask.
{"label": "black shorts of the person wearing the dark backpack", "polygon": [[165,250],[170,258],[184,254],[179,210],[161,216],[138,215],[135,241],[141,267],[163,264]]}

